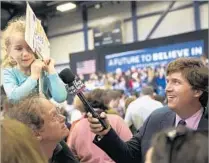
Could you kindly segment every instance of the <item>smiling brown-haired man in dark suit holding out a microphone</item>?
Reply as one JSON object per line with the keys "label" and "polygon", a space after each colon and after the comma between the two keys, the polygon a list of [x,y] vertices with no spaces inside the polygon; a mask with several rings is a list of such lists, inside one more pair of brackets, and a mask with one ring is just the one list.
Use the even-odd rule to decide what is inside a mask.
{"label": "smiling brown-haired man in dark suit holding out a microphone", "polygon": [[[139,132],[123,142],[109,125],[103,127],[88,113],[94,143],[117,163],[141,163],[157,132],[179,124],[191,129],[207,129],[205,108],[208,101],[208,69],[198,59],[179,58],[167,68],[166,95],[168,106],[155,110]],[[106,115],[100,115],[109,124]]]}

